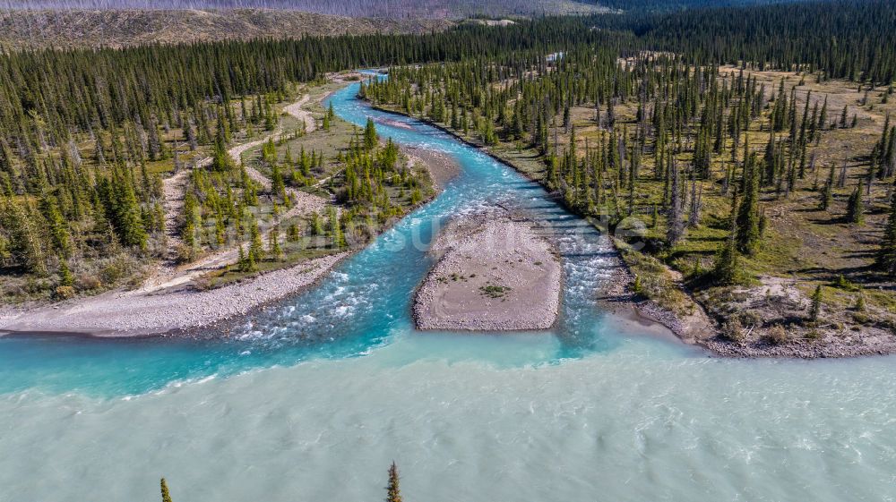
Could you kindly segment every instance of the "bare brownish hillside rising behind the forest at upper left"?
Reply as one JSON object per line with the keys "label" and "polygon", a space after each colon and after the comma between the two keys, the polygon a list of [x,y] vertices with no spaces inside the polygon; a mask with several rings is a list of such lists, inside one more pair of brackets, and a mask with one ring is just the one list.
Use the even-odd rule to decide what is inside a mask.
{"label": "bare brownish hillside rising behind the forest at upper left", "polygon": [[124,47],[222,38],[428,32],[444,20],[348,18],[298,11],[241,9],[0,11],[0,47]]}

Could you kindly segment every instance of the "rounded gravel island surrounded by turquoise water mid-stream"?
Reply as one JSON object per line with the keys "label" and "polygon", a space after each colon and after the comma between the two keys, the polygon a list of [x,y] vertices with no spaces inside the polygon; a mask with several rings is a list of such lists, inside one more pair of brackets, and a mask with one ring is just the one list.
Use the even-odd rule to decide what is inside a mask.
{"label": "rounded gravel island surrounded by turquoise water mid-stream", "polygon": [[563,268],[534,224],[503,210],[461,217],[430,252],[442,258],[414,303],[419,329],[529,330],[554,325]]}

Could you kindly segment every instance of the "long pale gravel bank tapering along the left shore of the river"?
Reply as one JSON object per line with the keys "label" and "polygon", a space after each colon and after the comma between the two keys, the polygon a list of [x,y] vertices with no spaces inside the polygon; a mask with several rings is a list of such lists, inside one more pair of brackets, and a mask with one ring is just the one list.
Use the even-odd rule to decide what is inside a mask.
{"label": "long pale gravel bank tapering along the left shore of the river", "polygon": [[110,292],[0,316],[4,332],[148,336],[214,325],[305,289],[348,256],[343,252],[210,291]]}

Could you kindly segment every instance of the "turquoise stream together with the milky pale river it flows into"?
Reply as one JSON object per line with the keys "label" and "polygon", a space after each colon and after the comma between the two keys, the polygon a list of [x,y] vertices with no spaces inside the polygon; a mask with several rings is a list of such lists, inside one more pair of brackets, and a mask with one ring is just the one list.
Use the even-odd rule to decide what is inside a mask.
{"label": "turquoise stream together with the milky pale river it flows into", "polygon": [[[607,316],[605,236],[486,155],[332,97],[461,175],[305,294],[208,339],[0,338],[0,499],[896,498],[896,359],[709,358]],[[396,123],[403,124],[401,127]],[[392,125],[390,125],[392,124]],[[543,333],[420,333],[426,243],[501,203],[549,225],[566,281]],[[214,337],[226,335],[224,337]]]}

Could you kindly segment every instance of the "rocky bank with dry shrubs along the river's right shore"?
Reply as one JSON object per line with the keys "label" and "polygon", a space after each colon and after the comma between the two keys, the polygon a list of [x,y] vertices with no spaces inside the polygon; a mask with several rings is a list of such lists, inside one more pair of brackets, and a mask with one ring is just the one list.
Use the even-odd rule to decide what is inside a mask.
{"label": "rocky bank with dry shrubs along the river's right shore", "polygon": [[[848,309],[828,307],[828,321],[812,326],[806,321],[811,300],[779,277],[761,277],[760,285],[717,291],[713,297],[703,294],[699,303],[690,300],[688,308],[672,310],[635,293],[634,275],[620,262],[610,286],[599,293],[607,310],[657,323],[714,356],[823,359],[896,353],[896,336],[889,328],[845,328]],[[737,306],[733,311],[719,311],[732,304]],[[703,305],[710,306],[708,311]]]}

